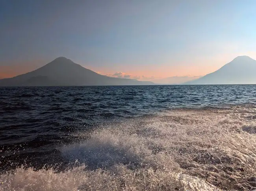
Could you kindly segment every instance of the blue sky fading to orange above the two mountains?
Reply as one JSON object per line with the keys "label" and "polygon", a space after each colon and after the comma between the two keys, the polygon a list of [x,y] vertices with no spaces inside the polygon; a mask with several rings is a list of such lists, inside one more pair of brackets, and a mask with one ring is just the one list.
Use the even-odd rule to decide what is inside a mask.
{"label": "blue sky fading to orange above the two mountains", "polygon": [[255,0],[1,0],[0,78],[59,56],[113,77],[197,78],[256,59],[255,18]]}

